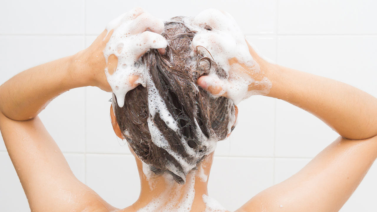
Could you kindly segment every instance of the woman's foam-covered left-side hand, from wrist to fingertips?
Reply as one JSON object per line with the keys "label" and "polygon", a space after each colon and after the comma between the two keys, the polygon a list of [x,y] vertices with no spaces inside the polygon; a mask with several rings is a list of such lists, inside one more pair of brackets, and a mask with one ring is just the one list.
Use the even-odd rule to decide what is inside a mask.
{"label": "woman's foam-covered left-side hand, from wrist to fingertips", "polygon": [[[118,57],[115,54],[111,54],[106,63],[104,50],[110,38],[114,35],[114,30],[116,31],[120,26],[116,25],[117,23],[120,25],[130,25],[129,31],[121,32],[122,34],[129,34],[129,37],[136,35],[133,39],[129,37],[122,38],[125,42],[128,42],[130,45],[136,45],[136,42],[140,43],[140,41],[144,41],[144,45],[141,46],[142,48],[135,49],[126,45],[123,47],[123,51],[129,54],[130,57],[133,57],[133,63],[151,48],[158,48],[161,54],[165,53],[166,45],[163,45],[165,39],[160,35],[164,30],[164,23],[145,12],[142,8],[134,8],[110,22],[107,29],[88,48],[74,55],[75,71],[79,72],[76,73],[83,78],[85,86],[96,86],[104,91],[112,92],[112,88],[107,81],[105,69],[107,68],[109,74],[112,75],[118,66]],[[108,29],[109,32],[107,31]],[[128,79],[126,80],[128,81],[124,83],[131,84],[133,88],[139,84],[135,83],[139,76],[129,75],[127,77]]]}

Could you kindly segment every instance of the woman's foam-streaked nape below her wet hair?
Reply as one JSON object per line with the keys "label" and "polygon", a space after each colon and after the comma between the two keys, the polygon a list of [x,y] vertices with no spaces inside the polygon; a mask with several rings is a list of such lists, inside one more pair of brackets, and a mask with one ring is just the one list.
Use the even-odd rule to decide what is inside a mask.
{"label": "woman's foam-streaked nape below her wet hair", "polygon": [[170,174],[154,174],[148,165],[143,165],[143,162],[136,158],[141,191],[139,199],[131,206],[132,210],[205,211],[205,203],[209,201],[207,183],[212,160],[213,154],[208,155],[196,170],[187,174],[186,183],[181,185],[176,183]]}

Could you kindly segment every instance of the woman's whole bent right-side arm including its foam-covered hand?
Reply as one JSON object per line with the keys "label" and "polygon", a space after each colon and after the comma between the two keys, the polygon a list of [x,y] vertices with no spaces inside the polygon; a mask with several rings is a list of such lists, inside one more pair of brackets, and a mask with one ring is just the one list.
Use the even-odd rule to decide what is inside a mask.
{"label": "woman's whole bent right-side arm including its foam-covered hand", "polygon": [[[231,58],[229,75],[236,76],[229,77],[227,81],[213,75],[202,76],[197,81],[199,86],[213,95],[232,98],[234,95],[228,93],[242,95],[239,91],[245,90],[244,86],[241,86],[243,89],[232,90],[243,83],[237,76],[248,74],[254,80],[250,80],[251,84],[247,85],[251,93],[294,104],[316,115],[341,135],[297,174],[257,194],[237,211],[338,211],[377,158],[377,99],[336,80],[270,64],[259,57],[250,45],[248,48],[252,58],[245,56],[245,60],[244,55],[248,52],[244,48],[247,44],[240,42],[240,29],[229,33],[230,29],[237,28],[234,28],[236,23],[226,12],[204,11],[195,20],[198,23],[209,23],[211,27],[210,31],[204,31],[207,36],[196,38],[196,43],[201,41],[199,43],[206,44],[203,46],[206,49],[217,46],[231,48],[220,53],[229,54],[226,55]],[[227,21],[218,23],[219,20]],[[230,26],[224,27],[228,22]],[[233,36],[233,43],[244,46],[233,48],[232,45],[224,45],[226,42],[220,39],[222,34],[228,34],[229,39]],[[195,37],[193,43],[194,40]],[[238,60],[240,55],[241,60]],[[257,65],[249,62],[253,60]],[[268,94],[266,88],[269,87],[261,81],[266,78],[272,83]],[[302,140],[305,142],[305,137]]]}

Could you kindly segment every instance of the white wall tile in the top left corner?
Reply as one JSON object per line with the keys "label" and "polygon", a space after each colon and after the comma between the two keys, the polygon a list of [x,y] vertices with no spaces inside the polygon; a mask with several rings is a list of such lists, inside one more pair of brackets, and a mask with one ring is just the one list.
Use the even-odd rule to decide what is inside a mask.
{"label": "white wall tile in the top left corner", "polygon": [[83,34],[84,1],[5,1],[0,26],[0,34]]}

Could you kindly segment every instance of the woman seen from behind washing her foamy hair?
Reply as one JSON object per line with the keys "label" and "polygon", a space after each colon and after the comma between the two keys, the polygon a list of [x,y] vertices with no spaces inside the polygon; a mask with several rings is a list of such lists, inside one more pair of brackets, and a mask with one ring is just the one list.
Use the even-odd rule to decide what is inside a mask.
{"label": "woman seen from behind washing her foamy hair", "polygon": [[[206,15],[206,13],[210,15]],[[206,39],[213,38],[214,34],[224,35],[226,33],[225,31],[228,28],[218,27],[219,24],[221,25],[224,22],[219,23],[217,22],[218,18],[213,18],[221,16],[220,13],[218,11],[204,11],[204,15],[202,13],[196,17],[198,26],[206,30],[201,35],[208,36],[195,38],[195,33],[187,34],[190,30],[182,28],[181,30],[183,31],[179,31],[179,36],[176,36],[178,40],[175,40],[174,37],[173,39],[171,39],[172,37],[169,38],[169,35],[177,35],[177,32],[174,31],[169,34],[168,27],[175,26],[176,23],[167,24],[165,26],[166,32],[162,33],[163,29],[161,28],[153,29],[155,23],[161,25],[158,20],[144,14],[141,9],[131,12],[133,18],[129,21],[134,23],[135,26],[142,26],[137,27],[136,29],[138,30],[132,31],[132,35],[143,36],[140,38],[145,38],[146,40],[145,46],[143,46],[144,51],[136,52],[135,50],[134,55],[137,57],[134,59],[137,60],[139,56],[150,48],[158,48],[158,51],[152,50],[143,55],[142,61],[150,68],[150,73],[156,72],[155,75],[151,76],[152,84],[156,85],[156,89],[159,90],[160,94],[161,90],[166,87],[166,84],[163,84],[164,82],[178,79],[179,77],[177,76],[181,76],[177,74],[167,78],[169,80],[159,80],[169,77],[164,75],[164,71],[174,72],[165,70],[167,67],[164,68],[161,64],[170,63],[175,69],[178,69],[176,67],[182,68],[182,66],[178,66],[179,62],[175,61],[174,57],[170,57],[170,55],[178,57],[183,54],[180,51],[177,52],[176,50],[179,47],[173,44],[174,42],[181,44],[184,40],[187,42],[187,39],[189,38],[190,40],[191,37],[193,42],[188,43],[188,45],[192,45],[190,51],[195,52],[198,58],[198,62],[194,63],[198,65],[196,67],[198,74],[189,75],[190,77],[186,78],[186,80],[189,79],[187,82],[190,82],[190,80],[196,82],[205,91],[222,97],[213,98],[202,89],[199,89],[199,91],[190,90],[189,83],[179,84],[179,81],[176,82],[176,84],[182,86],[182,90],[187,94],[195,94],[192,97],[198,99],[200,97],[199,102],[205,103],[198,108],[207,110],[207,112],[201,111],[199,115],[190,115],[192,110],[187,110],[184,113],[186,116],[183,117],[188,118],[181,117],[179,119],[186,121],[179,123],[180,127],[183,128],[179,136],[192,135],[192,137],[185,138],[185,141],[187,141],[188,146],[195,150],[195,153],[192,152],[192,154],[198,157],[189,155],[190,152],[187,149],[180,150],[180,146],[175,151],[168,151],[165,148],[166,152],[164,152],[162,150],[164,149],[163,147],[152,141],[159,148],[151,152],[154,155],[151,158],[151,155],[143,154],[142,151],[146,148],[143,144],[147,144],[148,147],[153,146],[152,142],[150,142],[152,139],[150,133],[151,124],[160,123],[158,128],[161,129],[161,127],[168,126],[169,123],[166,123],[166,120],[160,117],[165,122],[165,125],[161,124],[162,121],[157,120],[158,116],[156,115],[152,117],[153,120],[150,120],[149,114],[153,112],[151,112],[151,108],[145,108],[146,103],[139,106],[139,108],[143,108],[144,105],[144,109],[140,110],[140,113],[138,111],[130,111],[131,109],[138,109],[138,107],[135,107],[135,104],[140,104],[137,100],[148,100],[148,97],[145,96],[148,95],[145,93],[148,91],[138,85],[139,79],[137,76],[127,75],[126,80],[129,80],[127,82],[130,85],[129,88],[135,89],[130,89],[126,92],[125,104],[122,107],[117,102],[119,97],[113,97],[110,116],[116,135],[122,139],[126,138],[135,155],[141,180],[141,192],[139,199],[132,206],[120,211],[225,210],[207,196],[207,180],[213,154],[211,150],[207,149],[207,144],[204,145],[199,137],[195,137],[198,134],[192,132],[193,129],[200,128],[203,134],[208,132],[206,137],[217,138],[218,140],[224,139],[226,134],[230,132],[228,126],[232,126],[235,122],[232,118],[234,116],[233,102],[229,99],[235,101],[236,99],[247,97],[245,95],[241,96],[241,98],[236,98],[240,97],[241,94],[234,95],[237,92],[232,91],[231,88],[234,87],[230,86],[234,81],[224,80],[225,77],[219,73],[221,67],[219,61],[216,61],[218,55],[213,54],[211,58],[211,55],[208,55],[206,51],[200,50],[200,46],[202,46],[211,52],[210,49],[214,46],[208,44],[211,42],[206,42],[208,41]],[[227,15],[223,14],[224,17],[221,17],[226,19]],[[148,18],[137,18],[140,15]],[[145,31],[153,31],[155,33],[144,33]],[[105,91],[114,90],[107,81],[104,69],[107,68],[108,70],[107,77],[113,75],[112,70],[119,71],[117,68],[119,61],[118,58],[111,55],[107,55],[108,60],[106,61],[103,53],[114,32],[109,31],[107,33],[107,31],[104,31],[89,48],[75,55],[21,72],[0,87],[0,109],[2,112],[0,114],[0,129],[32,211],[118,211],[118,209],[110,206],[93,190],[74,177],[63,154],[37,116],[49,101],[69,89],[82,86],[97,86]],[[157,39],[161,36],[159,34],[163,34],[164,38],[167,39],[167,48],[154,45],[154,38]],[[216,39],[212,41],[215,41],[212,42],[215,46],[221,46],[222,44],[221,41]],[[207,46],[203,46],[205,44]],[[248,44],[245,43],[245,45]],[[189,51],[187,48],[185,49],[185,51]],[[231,65],[228,70],[229,75],[238,74],[238,72],[239,74],[248,74],[248,77],[253,79],[247,86],[248,92],[279,98],[299,106],[323,120],[338,132],[340,137],[297,174],[260,192],[237,211],[339,210],[359,185],[377,157],[377,99],[344,83],[268,63],[259,57],[250,46],[248,46],[248,50],[249,56],[256,62],[254,66],[245,65],[241,60],[229,60],[228,65]],[[188,53],[184,52],[183,55]],[[218,52],[218,54],[222,54],[222,52]],[[201,60],[202,58],[208,59]],[[202,61],[204,64],[201,63]],[[213,61],[216,64],[213,64]],[[211,72],[213,67],[216,69],[216,75]],[[185,74],[188,75],[187,72]],[[183,74],[182,77],[186,75]],[[256,83],[262,81],[262,79],[268,79],[270,83]],[[160,83],[157,83],[158,80]],[[152,84],[147,88],[150,88]],[[167,87],[169,88],[169,86]],[[179,93],[179,88],[176,89],[175,94],[183,93]],[[144,96],[142,95],[143,92]],[[143,98],[136,98],[140,97],[140,95]],[[169,95],[172,97],[174,92],[169,93]],[[180,97],[169,99],[168,96],[161,98],[166,104],[182,99]],[[198,99],[193,99],[193,102]],[[187,100],[187,104],[190,102]],[[179,105],[184,104],[174,105],[171,108],[177,109]],[[213,110],[210,110],[211,106],[220,107],[224,112],[219,114],[225,120],[220,119],[221,121],[214,125],[213,123],[215,123],[219,114],[211,114],[213,113]],[[146,110],[148,117],[141,117],[142,114],[145,115]],[[159,111],[161,112],[161,110]],[[171,109],[168,109],[168,111],[174,115]],[[135,114],[135,117],[127,117],[127,115]],[[178,112],[175,118],[179,117],[178,114],[182,115]],[[198,117],[202,118],[198,119]],[[195,122],[193,121],[194,119],[202,120],[203,123],[195,124],[195,127],[193,124]],[[133,121],[127,123],[129,120]],[[135,124],[138,120],[141,120],[140,123]],[[176,120],[178,119],[174,119],[174,121]],[[139,126],[142,127],[140,129],[136,128]],[[184,128],[185,126],[189,127]],[[203,128],[203,126],[207,127]],[[163,132],[168,133],[168,131]],[[141,135],[138,135],[138,132]],[[168,137],[167,135],[162,135],[165,138]],[[140,143],[137,143],[136,141],[139,140],[135,138],[143,139],[140,140]],[[179,144],[178,141],[177,144]],[[184,144],[182,143],[181,145]],[[206,148],[203,148],[204,146]],[[199,152],[205,153],[199,154]],[[166,161],[179,162],[178,159],[169,156],[174,153],[184,158],[186,162],[189,160],[191,165],[189,171],[184,169],[185,166],[182,166],[182,163],[176,163],[174,166],[169,166],[169,163],[166,163]],[[177,167],[182,169],[176,169]]]}

